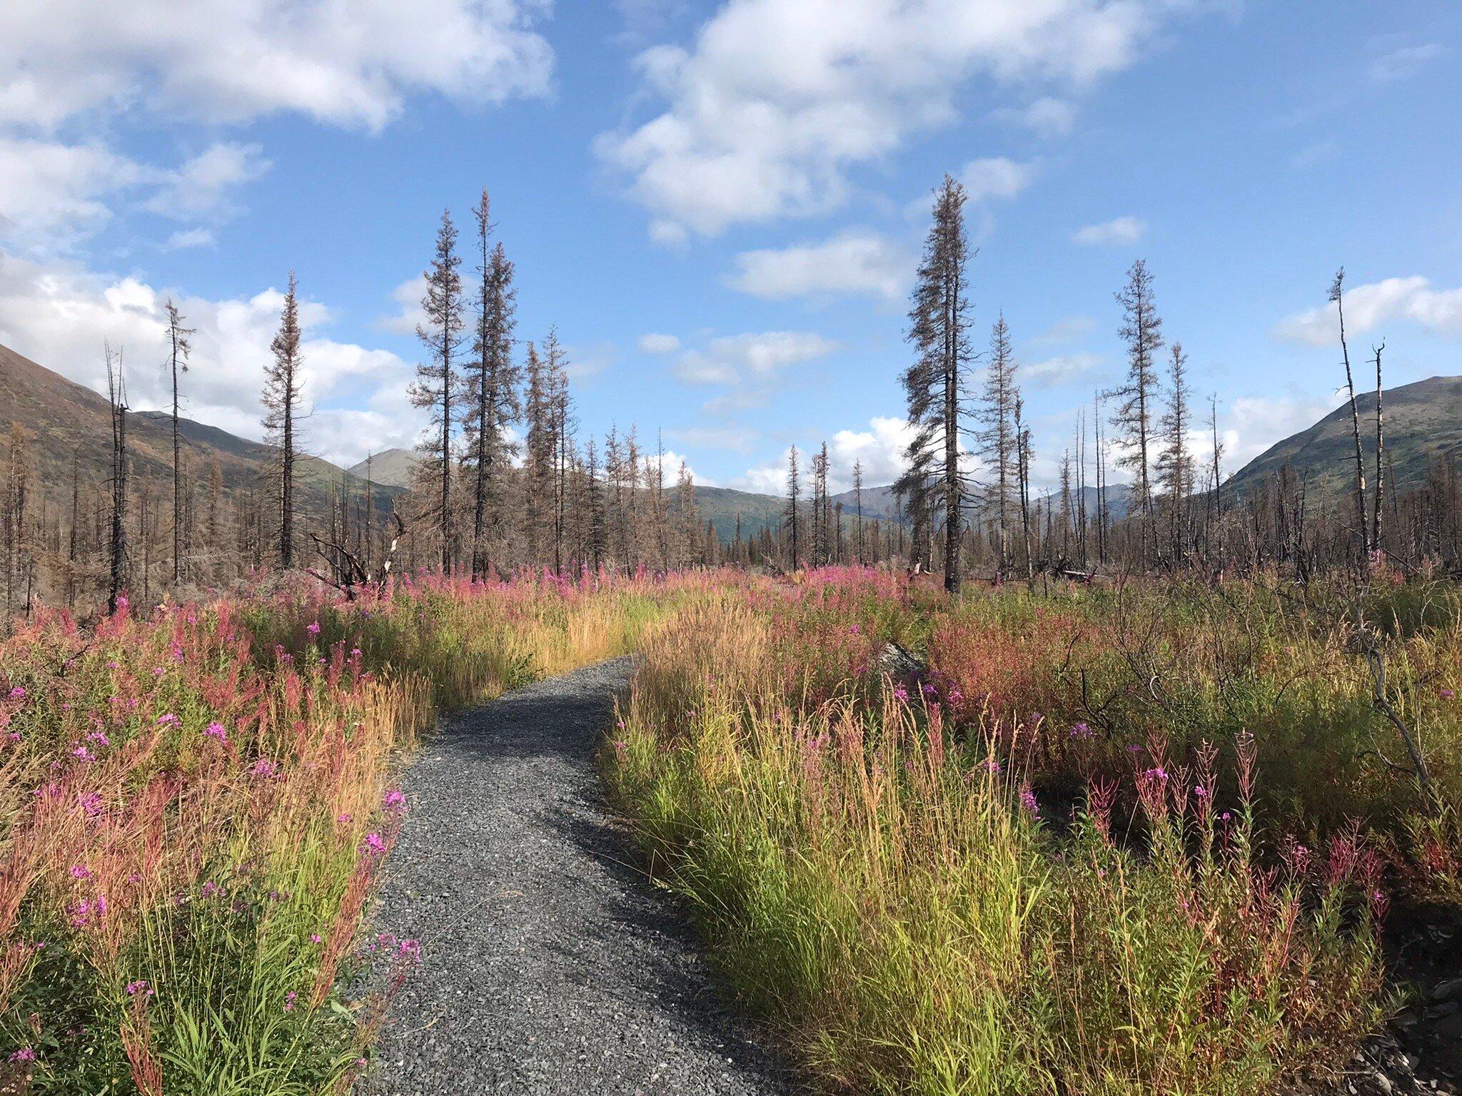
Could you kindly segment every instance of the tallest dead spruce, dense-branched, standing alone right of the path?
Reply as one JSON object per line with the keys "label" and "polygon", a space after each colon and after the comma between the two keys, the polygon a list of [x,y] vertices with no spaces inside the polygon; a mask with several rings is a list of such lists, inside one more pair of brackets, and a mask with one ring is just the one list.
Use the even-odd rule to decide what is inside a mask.
{"label": "tallest dead spruce, dense-branched, standing alone right of the path", "polygon": [[952,175],[944,175],[934,191],[934,224],[924,243],[909,308],[908,340],[914,343],[915,357],[904,373],[904,392],[914,438],[899,488],[909,500],[915,522],[924,516],[927,526],[921,535],[930,542],[939,517],[936,510],[942,511],[944,589],[950,592],[959,589],[966,488],[959,443],[963,378],[971,362],[968,263],[965,189]]}

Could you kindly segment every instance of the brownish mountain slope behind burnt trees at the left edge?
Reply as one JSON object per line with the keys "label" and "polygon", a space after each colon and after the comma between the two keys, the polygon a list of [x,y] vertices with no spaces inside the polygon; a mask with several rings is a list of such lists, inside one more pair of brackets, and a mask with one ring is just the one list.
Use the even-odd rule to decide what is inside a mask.
{"label": "brownish mountain slope behind burnt trees at the left edge", "polygon": [[[72,460],[83,487],[101,487],[111,476],[111,408],[105,397],[58,373],[37,365],[0,346],[0,428],[19,422],[31,433],[31,463],[41,494],[53,504],[70,504]],[[178,419],[183,468],[189,482],[206,485],[218,462],[224,494],[234,497],[259,482],[272,456],[269,446],[193,419]],[[135,482],[173,490],[173,421],[167,412],[139,411],[127,416],[127,449]],[[297,490],[300,513],[310,522],[329,513],[330,485],[345,482],[364,491],[364,481],[320,457],[300,457]],[[376,509],[389,513],[401,494],[376,484]]]}

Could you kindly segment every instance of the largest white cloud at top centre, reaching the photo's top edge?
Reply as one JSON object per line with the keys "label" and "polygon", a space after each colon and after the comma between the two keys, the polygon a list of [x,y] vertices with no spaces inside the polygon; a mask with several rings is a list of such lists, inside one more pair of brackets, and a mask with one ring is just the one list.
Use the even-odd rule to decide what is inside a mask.
{"label": "largest white cloud at top centre, reaching the photo's top edge", "polygon": [[[1170,0],[728,0],[689,47],[636,58],[664,102],[601,134],[654,235],[839,205],[854,165],[956,117],[977,76],[999,88],[1079,92],[1133,63]],[[1053,104],[1057,99],[1053,98]],[[1039,113],[1048,120],[1057,107]]]}

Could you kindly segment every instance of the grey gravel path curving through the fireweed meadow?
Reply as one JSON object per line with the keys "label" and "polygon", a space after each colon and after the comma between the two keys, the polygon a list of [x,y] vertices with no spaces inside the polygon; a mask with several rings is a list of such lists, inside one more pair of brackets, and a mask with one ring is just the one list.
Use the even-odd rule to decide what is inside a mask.
{"label": "grey gravel path curving through the fireweed meadow", "polygon": [[791,1092],[605,817],[592,757],[629,675],[614,659],[456,716],[406,773],[377,921],[423,964],[371,1093]]}

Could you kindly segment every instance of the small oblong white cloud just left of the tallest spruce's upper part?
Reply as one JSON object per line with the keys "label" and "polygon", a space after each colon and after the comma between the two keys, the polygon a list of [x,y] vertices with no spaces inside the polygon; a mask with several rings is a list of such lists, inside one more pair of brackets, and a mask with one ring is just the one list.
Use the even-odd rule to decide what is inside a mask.
{"label": "small oblong white cloud just left of the tallest spruce's upper part", "polygon": [[753,297],[866,294],[893,301],[904,295],[914,262],[877,232],[849,229],[822,243],[743,251],[735,265],[727,285]]}

